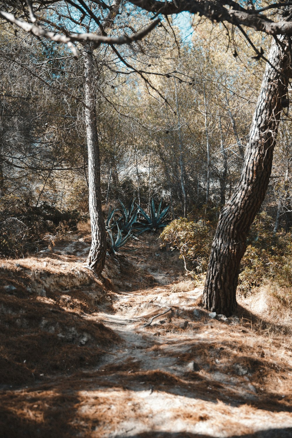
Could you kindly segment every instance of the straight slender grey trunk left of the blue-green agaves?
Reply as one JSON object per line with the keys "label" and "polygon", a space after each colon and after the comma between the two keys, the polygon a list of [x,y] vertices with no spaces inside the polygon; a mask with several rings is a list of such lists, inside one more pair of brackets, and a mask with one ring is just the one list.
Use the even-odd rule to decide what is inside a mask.
{"label": "straight slender grey trunk left of the blue-green agaves", "polygon": [[89,215],[91,222],[91,248],[87,265],[97,275],[102,273],[106,261],[106,227],[102,215],[100,190],[99,139],[96,126],[94,62],[91,46],[85,46],[85,125],[88,148]]}

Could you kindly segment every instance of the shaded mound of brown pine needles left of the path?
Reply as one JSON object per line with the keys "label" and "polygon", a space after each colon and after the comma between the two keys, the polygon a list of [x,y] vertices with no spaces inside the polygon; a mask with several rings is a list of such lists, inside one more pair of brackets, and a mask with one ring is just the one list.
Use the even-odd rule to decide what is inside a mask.
{"label": "shaded mound of brown pine needles left of the path", "polygon": [[0,384],[20,385],[54,372],[99,363],[102,349],[119,342],[110,329],[53,300],[1,296]]}

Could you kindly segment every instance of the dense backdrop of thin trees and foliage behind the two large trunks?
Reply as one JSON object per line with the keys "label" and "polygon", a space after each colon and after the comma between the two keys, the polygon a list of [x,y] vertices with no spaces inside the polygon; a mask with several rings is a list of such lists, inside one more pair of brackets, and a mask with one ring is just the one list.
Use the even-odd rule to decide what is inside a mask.
{"label": "dense backdrop of thin trees and foliage behind the two large trunks", "polygon": [[[116,31],[148,24],[131,7],[127,16]],[[232,25],[191,20],[187,38],[187,28],[168,18],[118,53],[99,46],[95,89],[105,216],[119,199],[134,198],[149,212],[152,198],[156,205],[162,198],[176,219],[165,243],[200,281],[220,209],[239,179],[265,62]],[[0,31],[0,255],[19,257],[88,219],[84,65],[67,46],[7,23]],[[269,36],[248,35],[267,51]],[[290,127],[286,106],[242,262],[245,291],[264,279],[292,285]]]}

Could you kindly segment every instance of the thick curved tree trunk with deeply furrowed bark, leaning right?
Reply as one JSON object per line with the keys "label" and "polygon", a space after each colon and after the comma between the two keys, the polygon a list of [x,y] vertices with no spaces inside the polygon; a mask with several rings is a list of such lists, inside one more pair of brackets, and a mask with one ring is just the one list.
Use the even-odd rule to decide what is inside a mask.
{"label": "thick curved tree trunk with deeply furrowed bark, leaning right", "polygon": [[275,41],[271,46],[269,62],[272,65],[267,63],[243,170],[219,217],[204,287],[205,308],[227,316],[236,309],[239,265],[246,250],[247,233],[269,183],[282,110],[281,99],[286,96],[290,76],[288,55]]}

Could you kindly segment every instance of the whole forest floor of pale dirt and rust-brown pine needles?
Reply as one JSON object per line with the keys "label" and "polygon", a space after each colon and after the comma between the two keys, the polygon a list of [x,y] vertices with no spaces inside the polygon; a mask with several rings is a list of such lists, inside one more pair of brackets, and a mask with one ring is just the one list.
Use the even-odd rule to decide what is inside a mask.
{"label": "whole forest floor of pale dirt and rust-brown pine needles", "polygon": [[70,239],[0,263],[1,438],[292,437],[288,324],[209,315],[157,237],[102,281]]}

